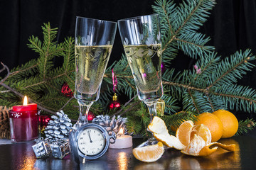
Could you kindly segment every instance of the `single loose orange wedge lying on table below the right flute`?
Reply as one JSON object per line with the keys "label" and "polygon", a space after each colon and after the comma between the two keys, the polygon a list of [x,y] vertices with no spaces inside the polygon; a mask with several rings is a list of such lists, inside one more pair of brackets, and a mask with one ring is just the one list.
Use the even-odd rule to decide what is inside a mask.
{"label": "single loose orange wedge lying on table below the right flute", "polygon": [[156,145],[136,147],[132,149],[132,154],[142,162],[155,162],[164,154],[164,145],[158,142]]}

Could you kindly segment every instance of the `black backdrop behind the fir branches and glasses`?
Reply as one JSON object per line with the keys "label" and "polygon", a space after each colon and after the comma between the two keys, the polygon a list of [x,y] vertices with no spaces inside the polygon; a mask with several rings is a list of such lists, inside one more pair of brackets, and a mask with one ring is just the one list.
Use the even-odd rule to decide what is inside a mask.
{"label": "black backdrop behind the fir branches and glasses", "polygon": [[[154,0],[0,0],[0,60],[10,69],[38,57],[27,47],[28,38],[42,39],[41,26],[50,22],[59,28],[58,41],[74,36],[75,16],[117,21],[121,18],[152,13]],[[175,0],[177,3],[181,0]],[[201,33],[210,36],[219,55],[226,57],[237,50],[252,49],[256,54],[256,1],[217,0]],[[117,31],[110,63],[119,60],[123,48]],[[58,64],[58,60],[55,63]],[[180,54],[173,62],[177,69],[192,67],[193,60]],[[255,63],[256,64],[256,63]],[[256,72],[245,75],[239,84],[255,89]]]}

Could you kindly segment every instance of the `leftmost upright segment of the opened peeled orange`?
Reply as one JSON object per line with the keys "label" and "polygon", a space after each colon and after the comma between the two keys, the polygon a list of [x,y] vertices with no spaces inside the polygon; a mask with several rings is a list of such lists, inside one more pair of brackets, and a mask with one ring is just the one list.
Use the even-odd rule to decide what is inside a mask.
{"label": "leftmost upright segment of the opened peeled orange", "polygon": [[188,120],[181,123],[180,127],[176,131],[176,137],[185,146],[188,146],[191,140],[191,131],[193,128],[193,122]]}

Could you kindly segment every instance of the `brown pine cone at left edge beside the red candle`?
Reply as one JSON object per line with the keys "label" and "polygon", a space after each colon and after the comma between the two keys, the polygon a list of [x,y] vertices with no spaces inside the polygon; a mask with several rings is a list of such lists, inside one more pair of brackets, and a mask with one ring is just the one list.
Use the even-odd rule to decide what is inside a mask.
{"label": "brown pine cone at left edge beside the red candle", "polygon": [[6,106],[0,106],[0,138],[1,139],[11,139],[10,135],[10,120],[9,120],[9,110],[11,108],[6,108]]}

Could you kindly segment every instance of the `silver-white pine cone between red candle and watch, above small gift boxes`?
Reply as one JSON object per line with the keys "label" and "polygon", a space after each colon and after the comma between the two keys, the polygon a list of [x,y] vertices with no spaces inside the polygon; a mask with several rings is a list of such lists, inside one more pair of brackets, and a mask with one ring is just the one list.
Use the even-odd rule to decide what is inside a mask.
{"label": "silver-white pine cone between red candle and watch, above small gift boxes", "polygon": [[57,112],[57,115],[59,118],[56,115],[51,116],[53,120],[49,121],[44,131],[50,142],[68,138],[68,133],[72,128],[72,123],[70,123],[71,120],[68,118],[68,115],[64,114],[63,111]]}

